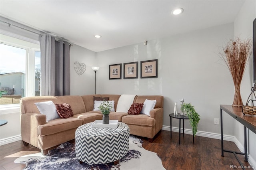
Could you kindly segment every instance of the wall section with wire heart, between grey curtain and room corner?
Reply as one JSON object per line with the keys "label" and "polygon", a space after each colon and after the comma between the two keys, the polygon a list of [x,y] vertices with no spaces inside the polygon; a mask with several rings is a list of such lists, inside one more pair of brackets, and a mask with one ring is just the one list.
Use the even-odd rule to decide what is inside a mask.
{"label": "wall section with wire heart, between grey curtain and room corner", "polygon": [[[86,71],[78,75],[74,69],[74,62],[86,65]],[[78,45],[70,48],[70,95],[94,94],[94,76],[92,66],[96,66],[96,53]]]}

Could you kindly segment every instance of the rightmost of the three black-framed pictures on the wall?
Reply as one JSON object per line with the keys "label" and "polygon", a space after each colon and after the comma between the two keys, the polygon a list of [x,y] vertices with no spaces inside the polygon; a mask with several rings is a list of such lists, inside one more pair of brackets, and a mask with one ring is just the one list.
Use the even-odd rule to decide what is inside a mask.
{"label": "rightmost of the three black-framed pictures on the wall", "polygon": [[140,61],[140,78],[157,77],[157,59]]}

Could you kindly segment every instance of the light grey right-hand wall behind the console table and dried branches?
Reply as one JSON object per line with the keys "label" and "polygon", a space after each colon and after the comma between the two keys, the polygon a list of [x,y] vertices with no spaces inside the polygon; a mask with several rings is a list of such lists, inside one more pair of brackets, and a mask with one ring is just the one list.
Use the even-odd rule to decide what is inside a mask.
{"label": "light grey right-hand wall behind the console table and dried branches", "polygon": [[[241,39],[252,38],[252,21],[256,18],[256,1],[246,0],[244,5],[242,6],[239,14],[234,21],[234,35],[240,36]],[[251,93],[251,88],[253,87],[253,55],[250,56],[248,67],[244,73],[244,77],[241,83],[241,95],[244,104],[246,104],[246,100],[248,95]],[[235,122],[234,127],[234,136],[241,144],[241,148],[244,149],[244,127],[239,122]],[[256,160],[256,134],[248,130],[249,136],[249,144],[248,144],[248,152],[249,152],[249,162],[252,160]],[[252,162],[256,165],[256,162]],[[251,164],[252,164],[251,163]]]}

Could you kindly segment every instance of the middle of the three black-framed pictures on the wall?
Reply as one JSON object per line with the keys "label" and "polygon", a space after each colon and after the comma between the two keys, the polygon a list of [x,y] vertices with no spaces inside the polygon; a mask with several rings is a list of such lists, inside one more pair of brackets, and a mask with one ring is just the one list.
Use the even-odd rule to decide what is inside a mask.
{"label": "middle of the three black-framed pictures on the wall", "polygon": [[124,79],[138,79],[138,61],[124,63]]}

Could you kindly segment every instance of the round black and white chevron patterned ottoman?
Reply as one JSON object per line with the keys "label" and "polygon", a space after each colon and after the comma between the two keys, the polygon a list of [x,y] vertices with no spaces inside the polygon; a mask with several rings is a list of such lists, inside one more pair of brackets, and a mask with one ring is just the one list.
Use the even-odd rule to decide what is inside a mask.
{"label": "round black and white chevron patterned ottoman", "polygon": [[130,129],[118,122],[116,128],[92,128],[92,123],[76,129],[76,157],[87,164],[119,163],[129,150]]}

